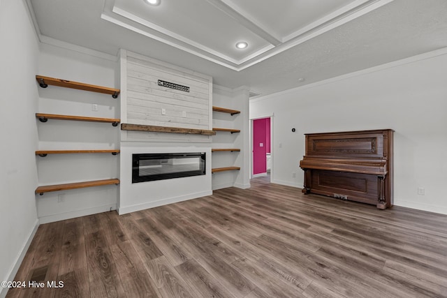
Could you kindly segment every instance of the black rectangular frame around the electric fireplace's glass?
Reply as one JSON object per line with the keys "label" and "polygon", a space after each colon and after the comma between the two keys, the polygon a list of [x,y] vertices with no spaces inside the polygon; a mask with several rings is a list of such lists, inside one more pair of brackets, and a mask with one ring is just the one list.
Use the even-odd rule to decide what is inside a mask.
{"label": "black rectangular frame around the electric fireplace's glass", "polygon": [[[166,160],[170,158],[194,158],[194,157],[198,157],[200,161],[198,170],[186,170],[182,172],[168,172],[161,174],[140,175],[140,161],[142,160],[156,161],[156,160]],[[205,152],[132,154],[132,183],[200,176],[206,174],[205,169],[206,169]]]}

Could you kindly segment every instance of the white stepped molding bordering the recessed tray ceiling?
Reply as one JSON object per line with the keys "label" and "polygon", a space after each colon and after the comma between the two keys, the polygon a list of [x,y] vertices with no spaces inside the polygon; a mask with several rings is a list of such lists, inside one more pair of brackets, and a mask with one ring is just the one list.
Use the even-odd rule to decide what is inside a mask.
{"label": "white stepped molding bordering the recessed tray ceiling", "polygon": [[[193,40],[179,36],[177,33],[168,31],[163,27],[159,27],[156,24],[143,20],[142,18],[133,15],[121,8],[115,7],[112,0],[105,1],[105,6],[103,13],[101,14],[101,19],[118,26],[124,27],[143,36],[147,36],[154,40],[158,40],[167,45],[172,45],[179,50],[184,50],[190,54],[194,54],[208,61],[212,61],[221,66],[225,66],[232,70],[240,71],[245,68],[249,68],[254,64],[258,64],[265,59],[273,57],[276,54],[284,52],[285,50],[295,47],[301,43],[305,43],[307,40],[319,36],[327,31],[330,31],[336,27],[346,24],[372,10],[379,8],[387,3],[394,0],[356,0],[350,3],[344,8],[340,8],[335,13],[332,13],[321,20],[312,23],[311,25],[292,33],[292,35],[282,38],[282,43],[278,43],[279,40],[272,36],[268,31],[265,31],[262,26],[252,22],[247,15],[243,15],[235,6],[228,5],[228,2],[209,0],[214,6],[230,15],[230,17],[235,18],[236,22],[241,24],[243,27],[254,32],[257,36],[260,36],[266,40],[270,45],[264,46],[257,50],[254,54],[250,54],[242,59],[234,59],[228,57],[228,55],[213,50],[210,47],[205,47]],[[152,32],[149,32],[152,31]]]}

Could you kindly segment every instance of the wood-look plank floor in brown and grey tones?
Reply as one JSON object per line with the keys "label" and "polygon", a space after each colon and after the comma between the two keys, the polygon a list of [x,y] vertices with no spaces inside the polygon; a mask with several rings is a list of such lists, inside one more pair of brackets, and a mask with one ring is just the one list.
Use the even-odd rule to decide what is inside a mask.
{"label": "wood-look plank floor in brown and grey tones", "polygon": [[447,216],[265,180],[41,225],[7,297],[447,297]]}

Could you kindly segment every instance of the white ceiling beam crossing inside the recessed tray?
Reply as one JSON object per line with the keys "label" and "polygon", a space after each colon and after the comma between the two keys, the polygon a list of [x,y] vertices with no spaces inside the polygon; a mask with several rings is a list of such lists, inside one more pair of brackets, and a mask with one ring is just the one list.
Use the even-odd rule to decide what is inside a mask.
{"label": "white ceiling beam crossing inside the recessed tray", "polygon": [[251,32],[255,33],[257,36],[263,38],[264,40],[267,40],[272,45],[280,45],[282,42],[278,38],[274,37],[272,34],[268,33],[258,25],[256,25],[254,22],[251,22],[247,17],[239,13],[234,8],[228,6],[226,3],[223,3],[221,0],[207,0],[212,5],[216,6],[220,10],[223,11],[223,13],[226,13],[230,17],[233,17],[239,24],[244,26],[245,28],[249,29]]}

